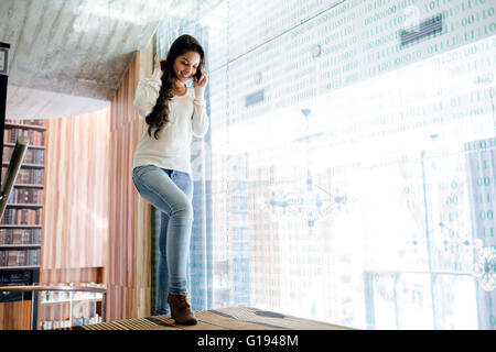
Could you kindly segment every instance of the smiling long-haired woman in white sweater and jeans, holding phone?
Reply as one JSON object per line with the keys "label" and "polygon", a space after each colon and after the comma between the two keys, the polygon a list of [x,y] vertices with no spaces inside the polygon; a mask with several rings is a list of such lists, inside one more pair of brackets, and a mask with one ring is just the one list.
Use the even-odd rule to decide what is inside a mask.
{"label": "smiling long-haired woman in white sweater and jeans, holding phone", "polygon": [[[196,324],[187,300],[186,263],[193,226],[192,134],[208,130],[204,99],[205,54],[191,35],[172,43],[166,59],[154,58],[150,78],[138,84],[134,107],[145,117],[134,153],[132,180],[139,194],[161,211],[155,315],[168,304],[177,323]],[[193,79],[193,89],[186,81]]]}

